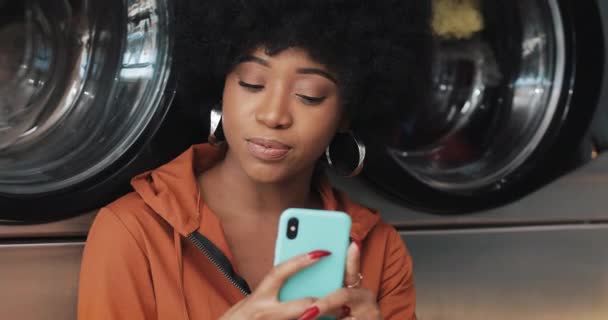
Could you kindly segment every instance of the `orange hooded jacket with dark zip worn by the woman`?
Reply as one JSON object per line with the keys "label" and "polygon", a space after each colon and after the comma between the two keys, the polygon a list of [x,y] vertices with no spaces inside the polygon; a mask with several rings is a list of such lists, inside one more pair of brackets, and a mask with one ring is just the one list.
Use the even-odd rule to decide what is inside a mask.
{"label": "orange hooded jacket with dark zip worn by the woman", "polygon": [[[78,319],[211,320],[245,297],[217,267],[239,279],[230,275],[220,221],[197,201],[196,175],[222,157],[212,146],[193,146],[135,177],[135,192],[100,210],[83,254]],[[363,246],[362,286],[377,295],[384,318],[415,319],[412,260],[399,234],[326,180],[320,190],[326,209],[350,214],[351,237]],[[211,242],[203,245],[219,249],[215,261],[197,247],[197,232]]]}

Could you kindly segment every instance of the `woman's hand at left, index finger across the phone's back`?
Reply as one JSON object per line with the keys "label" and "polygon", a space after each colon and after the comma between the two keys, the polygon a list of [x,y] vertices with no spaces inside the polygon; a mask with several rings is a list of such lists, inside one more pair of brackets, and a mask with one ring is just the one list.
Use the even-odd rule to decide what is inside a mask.
{"label": "woman's hand at left, index finger across the phone's back", "polygon": [[287,278],[329,254],[322,250],[312,251],[275,266],[251,295],[230,308],[220,320],[290,320],[298,319],[303,314],[317,313],[318,315],[317,309],[309,310],[316,299],[305,298],[279,302],[278,293]]}

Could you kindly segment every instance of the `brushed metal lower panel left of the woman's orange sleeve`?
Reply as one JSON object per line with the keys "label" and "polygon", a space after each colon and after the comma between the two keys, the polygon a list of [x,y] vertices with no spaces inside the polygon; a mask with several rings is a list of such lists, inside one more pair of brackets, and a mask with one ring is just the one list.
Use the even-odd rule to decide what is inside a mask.
{"label": "brushed metal lower panel left of the woman's orange sleeve", "polygon": [[0,318],[76,319],[84,243],[0,245]]}

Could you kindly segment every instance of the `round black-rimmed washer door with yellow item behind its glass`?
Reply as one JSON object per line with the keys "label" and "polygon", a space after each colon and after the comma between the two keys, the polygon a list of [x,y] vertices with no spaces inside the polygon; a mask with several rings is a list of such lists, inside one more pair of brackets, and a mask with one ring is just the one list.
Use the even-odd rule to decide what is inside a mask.
{"label": "round black-rimmed washer door with yellow item behind its glass", "polygon": [[371,146],[365,177],[416,209],[470,212],[588,159],[578,150],[604,65],[596,1],[433,3],[426,120],[404,120],[396,143]]}

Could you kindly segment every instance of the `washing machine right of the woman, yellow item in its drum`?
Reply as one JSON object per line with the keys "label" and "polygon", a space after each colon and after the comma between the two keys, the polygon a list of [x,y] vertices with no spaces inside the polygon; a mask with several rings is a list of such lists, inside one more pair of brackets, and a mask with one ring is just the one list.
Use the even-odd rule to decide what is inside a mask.
{"label": "washing machine right of the woman, yellow item in its drum", "polygon": [[608,2],[435,0],[433,92],[363,177],[420,319],[607,319]]}

